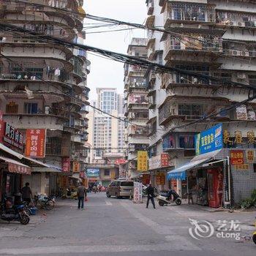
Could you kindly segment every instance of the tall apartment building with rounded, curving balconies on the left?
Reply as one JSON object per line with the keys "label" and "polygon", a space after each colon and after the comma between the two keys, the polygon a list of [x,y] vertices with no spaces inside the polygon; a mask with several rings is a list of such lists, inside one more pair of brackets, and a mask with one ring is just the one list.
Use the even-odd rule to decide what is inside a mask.
{"label": "tall apartment building with rounded, curving balconies on the left", "polygon": [[[79,43],[85,39],[83,14],[83,1],[70,0],[1,1],[0,9],[1,20],[7,23]],[[46,130],[45,157],[41,160],[52,170],[37,170],[34,184],[45,184],[40,186],[45,189],[34,192],[55,193],[57,184],[67,183],[56,173],[66,173],[67,178],[74,170],[79,178],[88,154],[86,80],[90,61],[84,50],[53,45],[18,32],[0,33],[0,109],[4,121],[23,132]],[[33,180],[33,175],[26,180]]]}

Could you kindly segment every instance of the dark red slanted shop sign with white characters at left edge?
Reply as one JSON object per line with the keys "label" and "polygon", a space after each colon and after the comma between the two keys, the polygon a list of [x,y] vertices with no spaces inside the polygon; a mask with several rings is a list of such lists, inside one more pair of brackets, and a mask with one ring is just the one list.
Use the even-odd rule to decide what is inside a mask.
{"label": "dark red slanted shop sign with white characters at left edge", "polygon": [[5,121],[0,120],[0,143],[12,148],[14,151],[23,152],[23,133]]}

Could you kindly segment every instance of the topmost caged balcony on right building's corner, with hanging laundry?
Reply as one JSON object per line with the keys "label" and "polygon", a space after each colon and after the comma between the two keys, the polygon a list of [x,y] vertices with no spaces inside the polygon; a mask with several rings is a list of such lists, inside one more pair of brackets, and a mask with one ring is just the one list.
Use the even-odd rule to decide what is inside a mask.
{"label": "topmost caged balcony on right building's corner, with hanging laundry", "polygon": [[167,2],[165,6],[165,29],[172,23],[215,23],[214,5]]}

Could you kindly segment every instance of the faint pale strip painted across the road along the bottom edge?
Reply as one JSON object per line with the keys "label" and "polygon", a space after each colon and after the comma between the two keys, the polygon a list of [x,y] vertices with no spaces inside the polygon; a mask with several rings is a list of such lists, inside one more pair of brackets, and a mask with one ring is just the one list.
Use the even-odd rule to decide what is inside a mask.
{"label": "faint pale strip painted across the road along the bottom edge", "polygon": [[[178,238],[179,239],[179,238]],[[0,255],[53,255],[56,253],[91,253],[91,252],[159,252],[159,251],[192,251],[197,250],[195,246],[187,244],[165,243],[165,244],[145,244],[145,245],[97,245],[97,246],[47,246],[47,247],[29,247],[0,249]]]}

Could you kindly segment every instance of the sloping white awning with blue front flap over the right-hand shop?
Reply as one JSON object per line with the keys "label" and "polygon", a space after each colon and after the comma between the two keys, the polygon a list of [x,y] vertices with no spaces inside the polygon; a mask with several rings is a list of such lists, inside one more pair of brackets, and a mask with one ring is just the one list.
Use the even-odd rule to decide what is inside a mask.
{"label": "sloping white awning with blue front flap over the right-hand shop", "polygon": [[187,173],[186,170],[190,170],[193,167],[196,167],[200,164],[203,164],[203,162],[208,162],[209,160],[213,159],[220,150],[216,150],[210,153],[201,154],[199,156],[194,157],[191,159],[190,162],[187,162],[185,165],[181,165],[181,167],[178,167],[174,170],[170,170],[170,172],[167,173],[167,179],[181,179],[181,181],[186,180]]}

